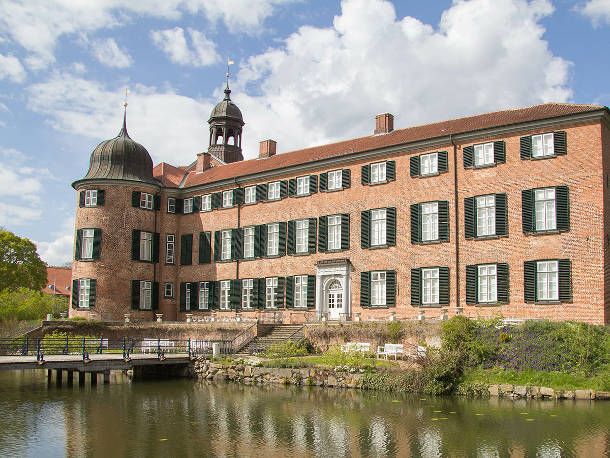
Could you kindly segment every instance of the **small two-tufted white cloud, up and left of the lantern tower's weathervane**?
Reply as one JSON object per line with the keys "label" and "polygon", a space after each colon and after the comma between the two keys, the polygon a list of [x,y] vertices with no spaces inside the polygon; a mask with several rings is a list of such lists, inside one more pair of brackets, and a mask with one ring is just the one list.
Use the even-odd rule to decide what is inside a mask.
{"label": "small two-tufted white cloud, up and left of the lantern tower's weathervane", "polygon": [[171,62],[176,64],[205,67],[220,60],[220,56],[216,52],[216,43],[208,40],[203,32],[191,28],[188,28],[187,32],[192,49],[188,47],[184,29],[181,27],[152,31],[151,38],[157,48],[167,54]]}

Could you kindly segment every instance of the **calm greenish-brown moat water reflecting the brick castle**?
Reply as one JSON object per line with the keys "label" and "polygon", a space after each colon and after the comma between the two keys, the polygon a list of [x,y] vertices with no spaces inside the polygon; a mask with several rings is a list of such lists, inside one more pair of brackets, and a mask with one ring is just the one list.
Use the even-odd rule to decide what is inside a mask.
{"label": "calm greenish-brown moat water reflecting the brick castle", "polygon": [[610,401],[0,371],[2,458],[608,457]]}

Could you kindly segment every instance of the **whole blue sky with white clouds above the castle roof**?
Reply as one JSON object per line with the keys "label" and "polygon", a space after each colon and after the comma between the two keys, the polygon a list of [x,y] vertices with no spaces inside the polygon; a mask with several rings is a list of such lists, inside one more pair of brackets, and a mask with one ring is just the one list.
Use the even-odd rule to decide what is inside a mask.
{"label": "whole blue sky with white clouds above the castle roof", "polygon": [[72,259],[91,151],[207,150],[227,60],[243,153],[548,101],[610,105],[610,0],[0,0],[0,225]]}

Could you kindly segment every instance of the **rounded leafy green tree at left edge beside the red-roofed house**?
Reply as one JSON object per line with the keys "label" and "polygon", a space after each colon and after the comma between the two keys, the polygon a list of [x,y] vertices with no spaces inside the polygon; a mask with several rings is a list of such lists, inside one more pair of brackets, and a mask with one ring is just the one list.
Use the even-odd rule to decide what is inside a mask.
{"label": "rounded leafy green tree at left edge beside the red-roofed house", "polygon": [[46,266],[36,245],[10,231],[0,231],[0,291],[30,288],[40,291],[46,285]]}

